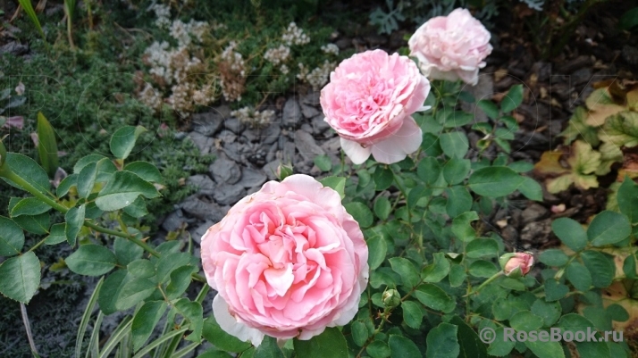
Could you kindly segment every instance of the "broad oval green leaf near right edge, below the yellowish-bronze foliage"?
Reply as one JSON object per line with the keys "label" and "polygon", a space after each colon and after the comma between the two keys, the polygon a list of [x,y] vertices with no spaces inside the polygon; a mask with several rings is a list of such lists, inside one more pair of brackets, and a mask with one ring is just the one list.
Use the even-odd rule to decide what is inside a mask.
{"label": "broad oval green leaf near right edge, below the yellowish-bronze foliage", "polygon": [[631,232],[631,224],[625,215],[604,211],[593,218],[587,229],[587,238],[593,246],[605,246],[624,240]]}

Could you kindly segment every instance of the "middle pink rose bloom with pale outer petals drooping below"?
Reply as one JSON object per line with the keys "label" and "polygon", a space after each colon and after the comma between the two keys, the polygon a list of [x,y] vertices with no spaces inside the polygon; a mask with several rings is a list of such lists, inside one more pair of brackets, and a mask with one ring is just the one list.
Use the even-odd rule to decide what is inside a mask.
{"label": "middle pink rose bloom with pale outer petals drooping below", "polygon": [[430,82],[407,56],[366,51],[344,60],[321,91],[325,121],[355,164],[373,154],[390,164],[416,152],[423,134],[412,113],[424,111]]}

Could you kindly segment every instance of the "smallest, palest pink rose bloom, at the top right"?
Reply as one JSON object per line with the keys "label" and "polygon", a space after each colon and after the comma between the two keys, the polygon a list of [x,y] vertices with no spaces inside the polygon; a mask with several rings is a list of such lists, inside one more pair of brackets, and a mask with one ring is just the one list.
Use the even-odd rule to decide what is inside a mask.
{"label": "smallest, palest pink rose bloom, at the top right", "polygon": [[463,79],[472,86],[478,82],[483,59],[491,54],[490,31],[466,9],[426,21],[410,37],[410,55],[430,79]]}

